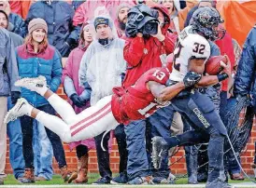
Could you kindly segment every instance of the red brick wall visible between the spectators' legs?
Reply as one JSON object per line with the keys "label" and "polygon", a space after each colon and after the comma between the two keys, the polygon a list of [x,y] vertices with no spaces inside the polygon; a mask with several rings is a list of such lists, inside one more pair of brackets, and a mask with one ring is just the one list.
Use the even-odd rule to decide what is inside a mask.
{"label": "red brick wall visible between the spectators' legs", "polygon": [[[63,87],[60,87],[58,89],[58,94],[66,99],[66,96],[64,95],[64,89]],[[255,124],[255,123],[254,123]],[[253,156],[254,156],[254,141],[256,141],[256,129],[255,126],[253,127],[253,130],[251,132],[251,138],[249,140],[249,143],[246,148],[246,152],[242,154],[242,165],[243,168],[249,173],[253,174],[252,169],[250,168],[250,165],[253,163]],[[7,141],[8,142],[8,141]],[[64,151],[65,151],[65,156],[66,156],[66,162],[68,164],[68,167],[70,169],[75,170],[77,168],[77,156],[76,153],[70,152],[69,148],[66,144],[64,144]],[[11,167],[9,164],[9,157],[8,157],[8,145],[7,145],[7,166],[6,166],[6,172],[11,173]],[[90,151],[90,159],[89,159],[89,171],[92,173],[98,172],[97,168],[97,156],[96,152],[94,150]],[[181,156],[184,155],[183,149],[180,149],[178,153],[171,158],[171,162],[177,161]],[[118,173],[119,170],[119,153],[118,153],[118,147],[117,147],[117,142],[114,140],[113,141],[113,147],[112,151],[110,154],[110,164],[111,164],[111,169],[114,173]],[[56,160],[53,159],[53,168],[55,173],[59,173],[58,165],[56,163]],[[175,165],[172,166],[172,172],[174,174],[184,174],[186,172],[186,164],[185,164],[185,158],[183,157],[181,160],[178,161]]]}

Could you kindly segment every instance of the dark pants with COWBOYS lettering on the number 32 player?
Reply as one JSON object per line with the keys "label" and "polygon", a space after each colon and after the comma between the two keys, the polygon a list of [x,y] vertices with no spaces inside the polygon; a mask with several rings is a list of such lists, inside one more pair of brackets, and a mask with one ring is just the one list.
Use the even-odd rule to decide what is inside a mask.
{"label": "dark pants with COWBOYS lettering on the number 32 player", "polygon": [[[198,91],[186,98],[175,98],[172,100],[172,104],[174,109],[190,122],[192,128],[195,129],[193,132],[202,135],[201,137],[192,138],[194,142],[202,142],[206,138],[204,135],[206,133],[209,135],[208,181],[214,181],[220,176],[220,168],[223,165],[223,143],[225,135],[227,135],[219,113],[215,110],[212,101]],[[205,132],[205,134],[202,134],[202,132]],[[182,140],[182,138],[180,139]]]}

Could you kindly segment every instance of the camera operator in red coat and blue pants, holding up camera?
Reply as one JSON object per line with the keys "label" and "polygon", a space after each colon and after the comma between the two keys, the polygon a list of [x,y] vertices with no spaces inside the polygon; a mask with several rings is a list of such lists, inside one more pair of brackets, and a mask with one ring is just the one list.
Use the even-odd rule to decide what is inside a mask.
{"label": "camera operator in red coat and blue pants, holding up camera", "polygon": [[[134,85],[136,80],[149,69],[165,65],[166,55],[172,53],[174,50],[177,36],[167,32],[170,25],[168,10],[161,5],[156,5],[151,8],[156,9],[159,13],[158,20],[160,23],[158,34],[145,37],[143,34],[139,33],[135,37],[129,37],[126,39],[123,55],[128,65],[126,75],[122,83],[123,87],[130,87]],[[147,138],[150,139],[149,137],[152,135],[147,134],[149,137],[147,136],[146,138],[145,135],[146,128],[153,128],[156,130],[156,127],[162,128],[162,131],[164,130],[163,132],[168,134],[172,124],[172,114],[172,109],[166,107],[164,110],[158,110],[151,118],[133,121],[129,126],[124,128],[128,150],[128,184],[143,184],[149,183],[149,181],[161,183],[167,181],[170,173],[167,161],[164,160],[164,168],[161,168],[160,170],[150,167],[145,140],[147,140]],[[156,121],[159,118],[161,118],[161,121]],[[153,124],[155,124],[156,127],[153,127]],[[158,136],[160,135],[164,136],[162,132],[158,133]],[[154,177],[153,179],[151,179],[150,176],[151,170],[154,171],[152,174]]]}

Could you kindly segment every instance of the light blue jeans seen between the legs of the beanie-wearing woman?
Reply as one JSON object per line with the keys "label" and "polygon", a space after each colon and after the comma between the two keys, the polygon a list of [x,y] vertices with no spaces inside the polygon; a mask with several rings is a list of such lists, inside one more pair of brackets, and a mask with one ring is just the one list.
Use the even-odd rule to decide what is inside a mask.
{"label": "light blue jeans seen between the legs of the beanie-wearing woman", "polygon": [[52,146],[47,136],[46,129],[39,122],[33,122],[33,150],[35,175],[44,177],[47,180],[52,179]]}

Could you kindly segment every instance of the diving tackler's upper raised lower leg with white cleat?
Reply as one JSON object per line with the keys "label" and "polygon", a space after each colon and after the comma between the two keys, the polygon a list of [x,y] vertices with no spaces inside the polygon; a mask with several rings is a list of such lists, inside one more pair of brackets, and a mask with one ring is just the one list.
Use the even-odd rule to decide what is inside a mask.
{"label": "diving tackler's upper raised lower leg with white cleat", "polygon": [[76,113],[72,106],[47,87],[46,78],[44,76],[22,78],[15,83],[15,86],[36,91],[46,98],[54,110],[61,115],[66,124],[71,124],[76,119]]}

